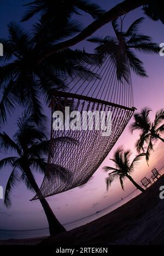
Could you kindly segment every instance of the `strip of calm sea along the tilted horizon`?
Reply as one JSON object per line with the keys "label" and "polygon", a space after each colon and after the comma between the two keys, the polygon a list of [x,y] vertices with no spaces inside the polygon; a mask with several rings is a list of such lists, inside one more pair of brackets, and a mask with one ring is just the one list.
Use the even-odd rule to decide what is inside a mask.
{"label": "strip of calm sea along the tilted horizon", "polygon": [[[164,173],[164,168],[162,166],[162,168],[160,169],[160,174],[163,174],[163,173]],[[100,212],[89,215],[80,220],[75,220],[73,222],[63,224],[63,226],[65,226],[66,230],[68,231],[68,230],[74,229],[75,227],[85,225],[93,220],[96,220],[112,212],[116,208],[120,207],[122,204],[125,204],[128,201],[130,201],[132,198],[138,196],[138,194],[140,194],[140,191],[134,190],[132,193],[124,197],[123,200],[120,199],[120,201],[115,202],[112,205],[109,205],[107,208],[101,210]],[[37,230],[0,230],[0,240],[19,239],[19,238],[23,239],[23,238],[43,237],[43,236],[49,236],[48,228],[37,229]]]}

